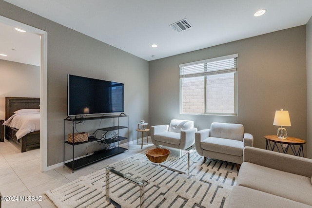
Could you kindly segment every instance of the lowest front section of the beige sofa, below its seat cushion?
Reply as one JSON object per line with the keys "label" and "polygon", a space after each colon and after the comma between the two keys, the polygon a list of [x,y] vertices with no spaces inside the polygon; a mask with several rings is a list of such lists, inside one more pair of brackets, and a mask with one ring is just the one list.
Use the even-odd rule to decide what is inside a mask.
{"label": "lowest front section of the beige sofa, below its seat cushion", "polygon": [[[240,170],[239,170],[240,171]],[[311,208],[263,191],[234,186],[229,198],[229,208]]]}

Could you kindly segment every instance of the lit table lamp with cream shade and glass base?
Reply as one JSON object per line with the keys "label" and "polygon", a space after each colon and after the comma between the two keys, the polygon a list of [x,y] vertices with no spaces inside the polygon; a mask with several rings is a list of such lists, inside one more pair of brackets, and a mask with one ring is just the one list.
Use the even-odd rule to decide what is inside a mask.
{"label": "lit table lamp with cream shade and glass base", "polygon": [[286,139],[287,132],[282,126],[292,126],[288,111],[284,111],[283,109],[275,111],[273,125],[280,126],[280,128],[277,129],[277,137],[280,139]]}

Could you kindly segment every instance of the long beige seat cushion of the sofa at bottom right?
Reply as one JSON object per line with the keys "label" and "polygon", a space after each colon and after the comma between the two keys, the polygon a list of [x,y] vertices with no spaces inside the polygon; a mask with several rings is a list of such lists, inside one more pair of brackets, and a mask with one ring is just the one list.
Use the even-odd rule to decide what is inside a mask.
{"label": "long beige seat cushion of the sofa at bottom right", "polygon": [[310,180],[310,177],[243,162],[237,185],[312,206]]}

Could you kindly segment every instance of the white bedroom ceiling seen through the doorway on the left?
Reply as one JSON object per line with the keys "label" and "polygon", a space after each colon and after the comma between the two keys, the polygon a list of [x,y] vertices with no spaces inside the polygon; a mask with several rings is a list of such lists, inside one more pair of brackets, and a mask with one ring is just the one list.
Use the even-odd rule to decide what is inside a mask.
{"label": "white bedroom ceiling seen through the doorway on the left", "polygon": [[0,59],[40,66],[40,36],[0,22]]}

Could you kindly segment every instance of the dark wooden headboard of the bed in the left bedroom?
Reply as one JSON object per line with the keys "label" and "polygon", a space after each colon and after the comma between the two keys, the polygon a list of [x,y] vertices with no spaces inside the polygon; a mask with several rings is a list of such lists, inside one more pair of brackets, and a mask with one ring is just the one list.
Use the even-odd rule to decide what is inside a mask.
{"label": "dark wooden headboard of the bed in the left bedroom", "polygon": [[37,97],[5,97],[5,120],[15,111],[24,108],[40,108],[40,98]]}

